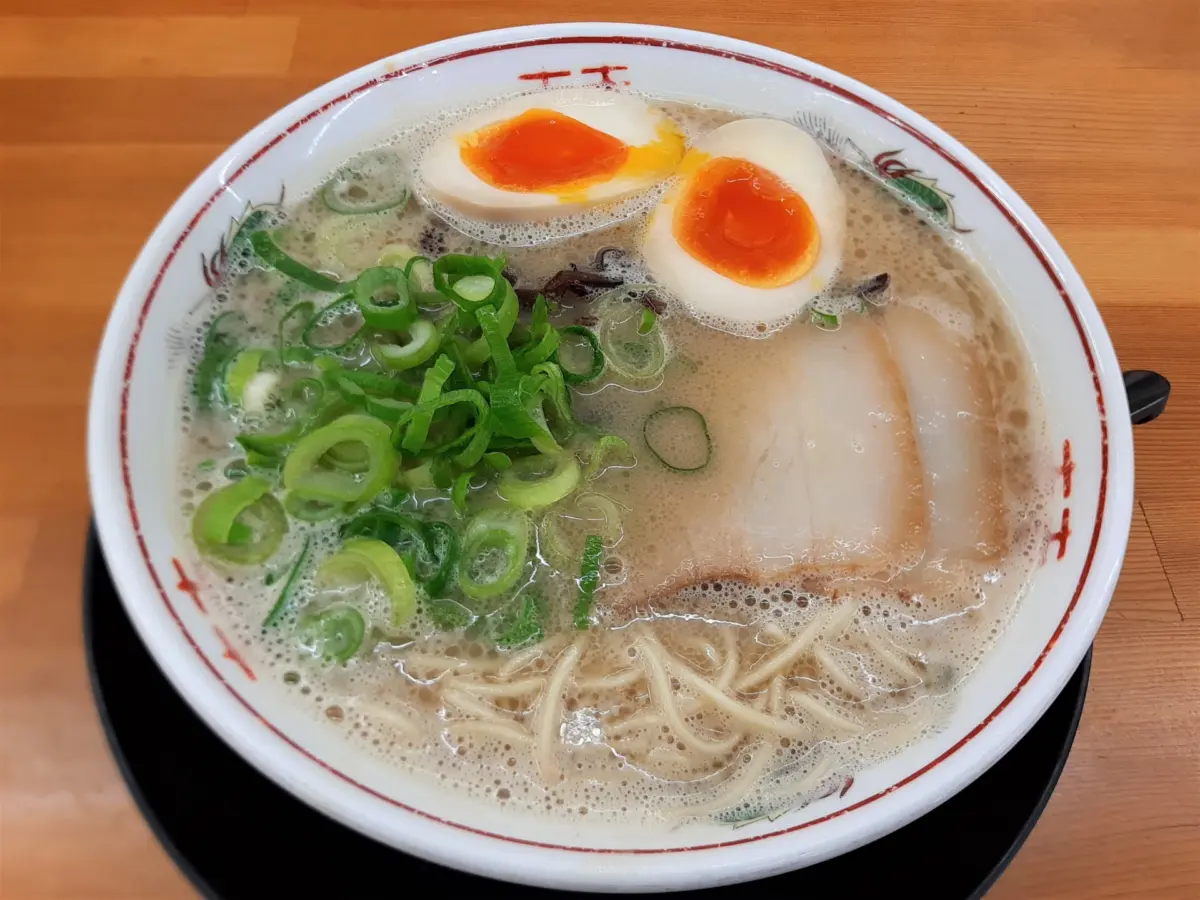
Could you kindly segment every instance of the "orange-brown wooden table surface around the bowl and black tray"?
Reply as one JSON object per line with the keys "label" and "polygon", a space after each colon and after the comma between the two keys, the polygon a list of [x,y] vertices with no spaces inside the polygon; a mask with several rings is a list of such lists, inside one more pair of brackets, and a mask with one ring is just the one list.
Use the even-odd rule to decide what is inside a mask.
{"label": "orange-brown wooden table surface around the bowl and black tray", "polygon": [[[109,758],[80,642],[88,380],[142,241],[227,144],[335,74],[599,17],[791,50],[948,127],[1054,229],[1124,367],[1174,382],[1136,433],[1075,750],[991,896],[1200,896],[1198,0],[0,0],[0,896],[193,895]],[[936,878],[936,848],[914,864]]]}

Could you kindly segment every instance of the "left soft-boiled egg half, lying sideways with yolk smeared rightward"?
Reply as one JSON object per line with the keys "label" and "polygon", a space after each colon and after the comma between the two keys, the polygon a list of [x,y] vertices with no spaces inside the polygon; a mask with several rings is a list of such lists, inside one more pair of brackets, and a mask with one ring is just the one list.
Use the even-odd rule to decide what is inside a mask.
{"label": "left soft-boiled egg half, lying sideways with yolk smeared rightward", "polygon": [[684,155],[674,122],[637,97],[548,90],[451,126],[425,154],[434,199],[486,221],[533,221],[611,203],[668,175]]}

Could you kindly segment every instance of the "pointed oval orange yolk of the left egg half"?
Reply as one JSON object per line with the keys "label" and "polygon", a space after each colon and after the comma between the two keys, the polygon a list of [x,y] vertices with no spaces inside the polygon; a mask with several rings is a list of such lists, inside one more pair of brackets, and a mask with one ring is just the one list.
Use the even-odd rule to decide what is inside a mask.
{"label": "pointed oval orange yolk of the left egg half", "polygon": [[563,113],[529,109],[462,138],[460,154],[492,187],[570,193],[620,172],[630,148]]}

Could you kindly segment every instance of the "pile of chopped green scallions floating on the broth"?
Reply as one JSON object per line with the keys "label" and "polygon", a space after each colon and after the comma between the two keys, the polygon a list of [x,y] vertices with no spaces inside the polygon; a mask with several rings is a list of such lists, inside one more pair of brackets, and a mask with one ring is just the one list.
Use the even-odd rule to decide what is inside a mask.
{"label": "pile of chopped green scallions floating on the broth", "polygon": [[[407,187],[368,169],[335,175],[326,205],[355,216],[403,203]],[[359,653],[368,634],[402,632],[414,616],[502,648],[540,641],[556,616],[586,628],[602,540],[570,550],[547,523],[572,496],[583,510],[587,496],[599,498],[588,503],[602,512],[604,533],[619,535],[616,506],[578,491],[636,460],[624,438],[577,420],[572,386],[595,382],[610,362],[634,382],[662,371],[661,329],[637,292],[610,292],[594,328],[556,325],[544,296],[521,312],[503,257],[431,260],[395,245],[341,281],[265,230],[246,242],[295,287],[278,292],[286,306],[268,346],[240,313],[209,326],[197,406],[240,424],[246,458],[199,504],[192,533],[210,559],[254,565],[281,551],[289,520],[300,523],[293,562],[275,570],[283,587],[264,628],[294,622],[301,646],[331,662]],[[320,546],[311,529],[330,520],[341,522],[341,548],[311,560]],[[566,570],[580,566],[575,608],[556,613],[528,587],[539,541],[566,557]],[[316,589],[301,596],[310,569]]]}

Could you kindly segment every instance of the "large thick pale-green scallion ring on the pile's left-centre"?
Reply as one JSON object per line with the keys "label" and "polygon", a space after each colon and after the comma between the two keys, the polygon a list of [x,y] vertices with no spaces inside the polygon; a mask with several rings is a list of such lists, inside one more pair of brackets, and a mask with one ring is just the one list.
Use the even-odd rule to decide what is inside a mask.
{"label": "large thick pale-green scallion ring on the pile's left-centre", "polygon": [[[346,443],[365,448],[366,470],[349,474],[320,468],[325,454]],[[388,487],[398,464],[385,422],[370,415],[343,415],[296,443],[283,464],[283,485],[308,499],[356,504]]]}

